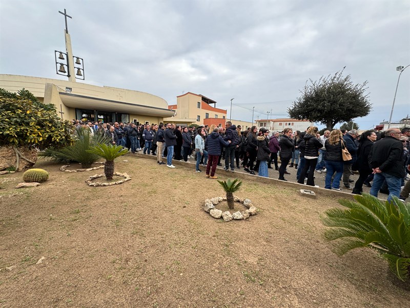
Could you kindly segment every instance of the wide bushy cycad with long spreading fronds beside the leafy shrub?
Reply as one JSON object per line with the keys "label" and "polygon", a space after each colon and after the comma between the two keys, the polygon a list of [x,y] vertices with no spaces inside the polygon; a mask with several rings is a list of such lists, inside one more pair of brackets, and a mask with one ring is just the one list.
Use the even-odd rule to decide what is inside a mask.
{"label": "wide bushy cycad with long spreading fronds beside the leafy shrub", "polygon": [[89,129],[76,130],[75,142],[73,145],[61,149],[47,148],[44,152],[39,152],[40,157],[49,157],[59,163],[78,162],[83,168],[89,168],[99,160],[99,156],[87,152],[93,146],[100,143],[109,143],[109,139],[104,134],[94,134],[91,136]]}

